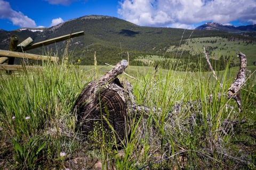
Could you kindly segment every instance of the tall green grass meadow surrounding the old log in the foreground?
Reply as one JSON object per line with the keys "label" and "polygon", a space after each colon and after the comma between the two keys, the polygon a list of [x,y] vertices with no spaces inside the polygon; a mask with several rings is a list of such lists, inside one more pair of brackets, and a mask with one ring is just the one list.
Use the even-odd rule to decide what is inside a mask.
{"label": "tall green grass meadow surrounding the old log in the foreground", "polygon": [[[243,113],[238,113],[233,99],[217,98],[218,92],[223,94],[234,82],[238,67],[215,71],[222,87],[211,72],[162,68],[155,72],[154,67],[127,67],[125,72],[138,80],[124,74],[118,78],[130,81],[136,103],[151,111],[129,115],[130,138],[124,146],[117,147],[83,141],[75,131],[76,117],[71,112],[85,84],[111,66],[97,66],[98,71],[94,66],[65,62],[43,66],[43,70],[36,72],[0,72],[2,168],[90,169],[98,159],[105,169],[139,169],[148,165],[150,169],[255,168],[256,141],[252,134],[256,128],[256,66],[247,67],[253,74],[249,78],[247,73],[249,79],[241,90]],[[212,103],[207,99],[210,94]],[[202,101],[201,109],[194,107],[170,114],[174,105],[183,103],[185,109],[187,101],[198,100]],[[234,109],[226,111],[226,104]],[[153,112],[154,108],[161,108],[161,112]],[[220,126],[225,119],[247,123],[226,135]],[[93,135],[98,137],[97,132]],[[68,165],[70,160],[74,164]]]}

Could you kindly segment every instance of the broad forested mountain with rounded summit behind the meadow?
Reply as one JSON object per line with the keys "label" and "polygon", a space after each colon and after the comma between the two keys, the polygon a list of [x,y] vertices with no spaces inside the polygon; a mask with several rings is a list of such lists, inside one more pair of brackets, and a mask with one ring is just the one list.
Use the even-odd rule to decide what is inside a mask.
{"label": "broad forested mountain with rounded summit behind the meadow", "polygon": [[[21,28],[13,31],[0,31],[0,49],[9,49],[11,35],[19,37],[19,43],[28,37],[34,43],[47,39],[68,35],[71,32],[84,31],[84,36],[62,41],[56,44],[28,50],[27,53],[45,54],[51,52],[59,57],[68,47],[68,54],[73,61],[81,59],[81,64],[93,64],[96,52],[98,64],[116,63],[122,58],[127,59],[130,53],[130,64],[135,63],[139,55],[163,55],[167,47],[184,44],[188,38],[198,37],[236,37],[250,39],[218,30],[185,30],[178,28],[141,27],[131,22],[111,16],[87,15],[68,20],[51,28]],[[181,39],[183,39],[181,41]],[[255,40],[255,39],[254,39]],[[67,44],[68,42],[68,44]],[[139,63],[141,64],[141,63]]]}

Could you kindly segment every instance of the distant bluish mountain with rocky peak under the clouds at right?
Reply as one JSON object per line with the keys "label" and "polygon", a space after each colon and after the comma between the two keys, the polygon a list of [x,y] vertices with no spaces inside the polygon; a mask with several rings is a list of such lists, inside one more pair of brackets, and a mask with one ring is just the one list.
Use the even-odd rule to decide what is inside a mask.
{"label": "distant bluish mountain with rocky peak under the clouds at right", "polygon": [[252,31],[256,31],[256,24],[235,27],[233,25],[222,25],[220,23],[207,22],[197,27],[196,30],[218,30],[218,31],[233,32],[233,33],[252,32]]}

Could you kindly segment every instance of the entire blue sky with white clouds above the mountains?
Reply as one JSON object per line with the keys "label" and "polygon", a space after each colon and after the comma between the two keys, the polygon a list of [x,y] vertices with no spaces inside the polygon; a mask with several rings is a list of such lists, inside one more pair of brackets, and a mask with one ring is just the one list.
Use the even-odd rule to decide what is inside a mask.
{"label": "entire blue sky with white clouds above the mountains", "polygon": [[256,0],[0,0],[0,29],[52,27],[85,15],[141,26],[194,29],[206,22],[256,24]]}

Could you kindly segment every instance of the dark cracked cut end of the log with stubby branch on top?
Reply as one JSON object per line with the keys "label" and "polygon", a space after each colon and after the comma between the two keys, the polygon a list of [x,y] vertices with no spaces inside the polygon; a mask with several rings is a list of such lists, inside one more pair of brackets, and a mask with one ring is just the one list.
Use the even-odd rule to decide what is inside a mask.
{"label": "dark cracked cut end of the log with stubby branch on top", "polygon": [[[129,88],[132,86],[129,82],[121,83],[117,75],[127,66],[126,60],[117,63],[99,80],[89,82],[78,96],[73,107],[77,118],[76,130],[88,137],[87,140],[98,138],[95,140],[118,143],[124,139],[125,127],[128,127],[127,107],[131,106],[127,94],[132,95],[132,89]],[[98,136],[95,137],[93,132],[98,133]]]}

